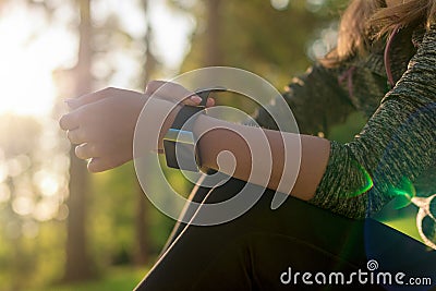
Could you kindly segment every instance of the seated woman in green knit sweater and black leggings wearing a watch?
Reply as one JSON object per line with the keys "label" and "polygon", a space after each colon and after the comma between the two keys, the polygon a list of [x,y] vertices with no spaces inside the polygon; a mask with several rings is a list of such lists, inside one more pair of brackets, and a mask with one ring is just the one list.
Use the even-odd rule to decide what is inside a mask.
{"label": "seated woman in green knit sweater and black leggings wearing a watch", "polygon": [[[326,282],[320,276],[314,286],[314,276],[308,275],[304,281],[304,271],[341,271],[351,275],[347,283],[371,290],[377,284],[352,280],[359,270],[375,270],[366,266],[370,258],[383,260],[385,270],[433,276],[436,282],[435,252],[426,252],[408,237],[371,219],[362,220],[391,201],[403,181],[415,184],[420,193],[436,192],[431,178],[436,160],[435,19],[433,0],[352,1],[342,17],[337,49],[290,84],[283,95],[304,133],[300,136],[276,131],[265,109],[256,117],[264,129],[199,116],[194,132],[231,129],[216,129],[202,136],[202,163],[218,169],[218,154],[229,150],[237,167],[232,180],[213,190],[196,189],[191,198],[214,203],[237,194],[252,166],[244,140],[263,134],[271,149],[255,158],[265,165],[272,154],[272,172],[266,184],[250,182],[268,190],[250,211],[228,223],[178,223],[159,262],[137,289],[280,290],[296,286],[298,290],[313,290]],[[77,157],[90,158],[90,171],[111,169],[132,158],[137,116],[161,85],[152,82],[144,95],[109,88],[68,101],[73,110],[60,124],[78,145]],[[183,88],[173,84],[160,90],[155,113],[171,110],[178,102],[174,96],[181,92]],[[184,105],[198,102],[194,96]],[[213,102],[208,100],[208,106]],[[162,133],[181,107],[171,111]],[[269,109],[275,110],[274,105]],[[328,132],[354,111],[364,112],[368,121],[351,143],[312,135]],[[270,210],[274,191],[289,174],[282,162],[283,143],[292,148],[295,138],[302,143],[301,169],[289,193],[295,198]],[[262,169],[253,170],[262,173]],[[182,215],[191,217],[192,213],[187,209]],[[413,256],[405,256],[407,252]],[[385,287],[395,284],[401,282],[385,282]],[[335,284],[335,289],[341,287]]]}

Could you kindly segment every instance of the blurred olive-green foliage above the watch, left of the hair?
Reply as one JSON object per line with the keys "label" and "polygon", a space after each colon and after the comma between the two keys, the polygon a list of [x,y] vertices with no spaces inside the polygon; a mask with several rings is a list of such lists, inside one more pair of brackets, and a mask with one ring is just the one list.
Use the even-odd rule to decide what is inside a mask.
{"label": "blurred olive-green foliage above the watch, left of the hair", "polygon": [[312,11],[307,2],[290,1],[279,11],[264,0],[220,1],[219,35],[208,34],[206,8],[197,9],[198,25],[182,71],[203,65],[207,39],[215,37],[222,56],[220,64],[249,70],[284,87],[310,65],[307,49],[320,29],[337,19],[338,7],[346,1],[324,1]]}

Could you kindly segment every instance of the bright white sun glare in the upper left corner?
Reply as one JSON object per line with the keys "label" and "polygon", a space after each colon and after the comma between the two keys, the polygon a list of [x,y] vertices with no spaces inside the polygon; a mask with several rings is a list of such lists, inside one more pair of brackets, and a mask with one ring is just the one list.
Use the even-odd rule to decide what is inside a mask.
{"label": "bright white sun glare in the upper left corner", "polygon": [[0,36],[0,113],[49,113],[56,97],[52,72],[74,54],[74,38],[20,5],[3,13]]}

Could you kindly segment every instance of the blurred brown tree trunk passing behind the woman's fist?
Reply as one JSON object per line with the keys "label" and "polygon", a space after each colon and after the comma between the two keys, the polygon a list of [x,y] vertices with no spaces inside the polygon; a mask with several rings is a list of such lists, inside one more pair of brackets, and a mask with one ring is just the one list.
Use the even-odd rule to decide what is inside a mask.
{"label": "blurred brown tree trunk passing behind the woman's fist", "polygon": [[[92,24],[90,0],[78,0],[81,23],[78,25],[80,47],[77,64],[73,69],[74,96],[92,90]],[[70,209],[66,222],[66,259],[64,281],[83,281],[95,277],[96,272],[92,257],[87,252],[86,235],[86,201],[89,196],[88,173],[84,161],[74,155],[74,147],[70,150]]]}

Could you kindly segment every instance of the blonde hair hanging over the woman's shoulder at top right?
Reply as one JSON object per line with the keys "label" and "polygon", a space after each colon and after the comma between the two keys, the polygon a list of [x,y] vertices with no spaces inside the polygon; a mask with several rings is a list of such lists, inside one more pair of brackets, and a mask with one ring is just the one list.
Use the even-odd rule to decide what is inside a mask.
{"label": "blonde hair hanging over the woman's shoulder at top right", "polygon": [[386,7],[385,0],[352,0],[339,26],[337,48],[324,60],[335,65],[352,56],[365,53],[370,44],[384,37],[395,27],[436,22],[435,0],[407,0],[399,5]]}

